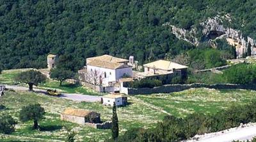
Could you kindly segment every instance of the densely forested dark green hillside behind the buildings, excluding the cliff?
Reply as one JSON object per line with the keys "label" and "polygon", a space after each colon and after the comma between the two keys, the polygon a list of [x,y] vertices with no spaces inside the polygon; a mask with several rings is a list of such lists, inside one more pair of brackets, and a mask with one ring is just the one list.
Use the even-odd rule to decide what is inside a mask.
{"label": "densely forested dark green hillside behind the buildings, excluding the cliff", "polygon": [[173,58],[194,45],[179,40],[166,22],[191,29],[227,13],[232,21],[224,26],[256,38],[253,0],[0,1],[0,63],[6,69],[42,68],[50,52],[67,54],[77,68],[101,54],[133,55],[140,63]]}

